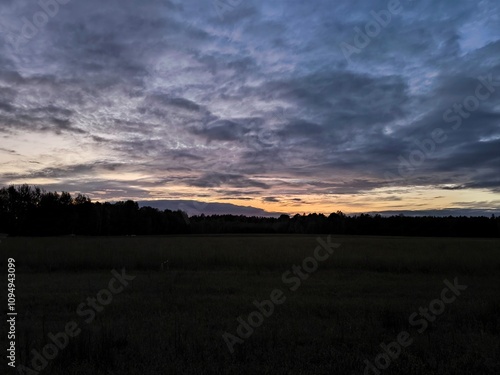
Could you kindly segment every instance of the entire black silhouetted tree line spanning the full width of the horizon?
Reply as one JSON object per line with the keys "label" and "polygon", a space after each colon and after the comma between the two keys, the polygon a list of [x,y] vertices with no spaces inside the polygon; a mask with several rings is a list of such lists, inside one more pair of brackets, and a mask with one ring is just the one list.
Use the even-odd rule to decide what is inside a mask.
{"label": "entire black silhouetted tree line spanning the full width of the horizon", "polygon": [[323,214],[196,215],[139,207],[128,200],[92,202],[87,196],[21,185],[0,189],[0,233],[14,236],[167,234],[342,234],[500,237],[500,217]]}

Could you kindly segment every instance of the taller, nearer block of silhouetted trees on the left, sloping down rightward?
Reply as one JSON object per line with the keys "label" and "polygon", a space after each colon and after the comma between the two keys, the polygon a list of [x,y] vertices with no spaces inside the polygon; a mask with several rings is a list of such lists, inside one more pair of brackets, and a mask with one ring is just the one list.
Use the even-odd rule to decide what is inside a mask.
{"label": "taller, nearer block of silhouetted trees on the left, sloping down rightward", "polygon": [[16,236],[189,233],[182,211],[159,211],[128,200],[92,202],[85,195],[29,185],[0,189],[0,232]]}

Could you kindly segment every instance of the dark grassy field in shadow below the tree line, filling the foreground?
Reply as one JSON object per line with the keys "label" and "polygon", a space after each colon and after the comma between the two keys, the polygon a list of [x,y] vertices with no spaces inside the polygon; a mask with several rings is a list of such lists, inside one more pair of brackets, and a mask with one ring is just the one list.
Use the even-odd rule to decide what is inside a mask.
{"label": "dark grassy field in shadow below the tree line, filling the foreground", "polygon": [[[8,258],[16,264],[17,364],[33,369],[32,350],[43,353],[52,342],[49,333],[64,332],[74,321],[81,332],[46,361],[41,374],[500,373],[499,240],[332,237],[340,247],[331,254],[323,249],[329,256],[316,270],[303,270],[299,285],[292,267],[315,268],[304,259],[314,257],[317,238],[327,241],[327,236],[5,238],[2,274]],[[110,289],[116,278],[111,271],[121,274],[123,268],[135,278],[123,288],[116,284],[122,291],[85,322],[91,317],[87,298]],[[434,315],[425,322],[419,315],[411,324],[420,307],[443,299],[445,280],[467,288],[453,294],[448,287],[446,296],[453,301],[441,303],[444,310],[438,313],[440,305],[434,304]],[[252,334],[238,336],[237,318],[248,322],[259,311],[254,301],[272,299],[276,289],[283,292],[282,303],[271,303],[272,309],[264,303],[269,316],[260,313]],[[82,303],[87,306],[78,312]],[[403,341],[411,344],[389,345],[405,331],[410,338]],[[238,339],[232,353],[225,332]],[[384,343],[392,347],[390,354]],[[5,355],[0,365],[2,373],[18,373]]]}

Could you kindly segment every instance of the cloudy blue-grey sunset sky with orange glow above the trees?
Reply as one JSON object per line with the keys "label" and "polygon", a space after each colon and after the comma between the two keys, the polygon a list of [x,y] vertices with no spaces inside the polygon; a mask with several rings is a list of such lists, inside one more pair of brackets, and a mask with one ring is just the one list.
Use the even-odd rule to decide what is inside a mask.
{"label": "cloudy blue-grey sunset sky with orange glow above the trees", "polygon": [[500,211],[499,99],[497,0],[0,4],[0,186]]}

